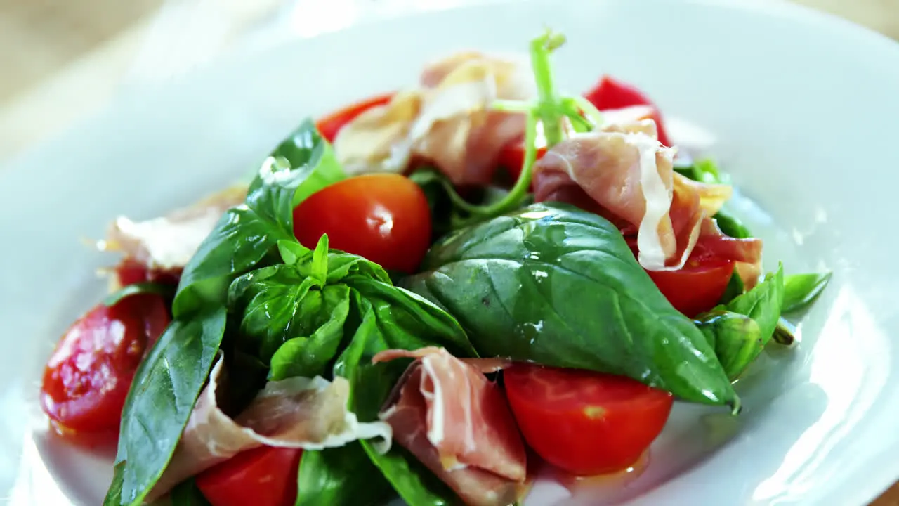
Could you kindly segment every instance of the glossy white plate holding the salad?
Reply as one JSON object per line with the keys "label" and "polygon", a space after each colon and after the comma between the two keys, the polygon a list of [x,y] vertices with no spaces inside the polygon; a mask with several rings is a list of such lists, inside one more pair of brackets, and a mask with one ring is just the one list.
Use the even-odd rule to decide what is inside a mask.
{"label": "glossy white plate holding the salad", "polygon": [[[48,438],[36,402],[53,343],[103,291],[93,268],[111,258],[82,238],[116,214],[151,217],[229,183],[302,117],[412,83],[426,59],[523,50],[544,25],[569,37],[556,59],[568,89],[610,72],[716,134],[717,158],[752,199],[734,205],[765,239],[767,267],[834,271],[801,346],[769,354],[739,385],[742,416],[679,406],[621,495],[583,486],[571,503],[851,505],[893,483],[899,45],[791,5],[547,0],[239,56],[125,96],[6,167],[0,497],[93,505],[110,479],[108,460]],[[559,491],[547,486],[529,503],[549,503]]]}

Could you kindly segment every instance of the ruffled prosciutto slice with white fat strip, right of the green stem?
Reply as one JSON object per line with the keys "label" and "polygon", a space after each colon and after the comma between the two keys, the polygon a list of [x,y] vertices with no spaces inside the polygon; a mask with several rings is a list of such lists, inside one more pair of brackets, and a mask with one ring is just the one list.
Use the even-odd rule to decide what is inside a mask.
{"label": "ruffled prosciutto slice with white fat strip, right of the green stem", "polygon": [[[760,240],[728,240],[710,223],[730,198],[729,185],[674,172],[675,149],[657,140],[654,121],[641,117],[639,108],[607,119],[614,122],[574,134],[540,158],[534,167],[537,202],[573,203],[610,219],[625,235],[636,234],[637,259],[647,270],[683,267],[697,244],[758,266]],[[747,285],[756,282],[753,270],[739,270]]]}

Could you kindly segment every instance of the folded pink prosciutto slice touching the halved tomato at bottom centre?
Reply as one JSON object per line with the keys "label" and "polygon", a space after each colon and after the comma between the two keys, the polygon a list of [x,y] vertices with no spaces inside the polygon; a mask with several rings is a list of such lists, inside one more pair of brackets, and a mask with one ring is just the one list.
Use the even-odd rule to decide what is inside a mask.
{"label": "folded pink prosciutto slice touching the halved tomato at bottom centre", "polygon": [[500,387],[481,367],[443,348],[388,350],[374,362],[412,357],[381,412],[396,443],[409,450],[468,505],[506,506],[525,492],[521,434]]}

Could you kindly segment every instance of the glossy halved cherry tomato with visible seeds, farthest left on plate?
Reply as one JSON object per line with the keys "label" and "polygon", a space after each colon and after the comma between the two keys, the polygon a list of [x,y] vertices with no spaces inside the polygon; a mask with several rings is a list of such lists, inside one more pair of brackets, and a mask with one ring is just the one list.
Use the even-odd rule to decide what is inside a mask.
{"label": "glossy halved cherry tomato with visible seeds, farthest left on plate", "polygon": [[40,403],[61,435],[115,434],[144,352],[169,323],[163,298],[125,297],[97,305],[59,341],[44,369]]}

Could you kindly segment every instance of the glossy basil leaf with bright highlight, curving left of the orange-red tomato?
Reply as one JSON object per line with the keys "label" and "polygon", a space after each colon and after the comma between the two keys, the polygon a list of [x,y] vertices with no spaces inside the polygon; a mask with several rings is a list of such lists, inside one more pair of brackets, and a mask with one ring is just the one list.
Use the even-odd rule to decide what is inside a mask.
{"label": "glossy basil leaf with bright highlight, curving left of the orange-red tomato", "polygon": [[315,123],[303,122],[265,160],[246,203],[222,216],[184,267],[175,316],[205,303],[224,303],[232,279],[255,267],[279,240],[296,240],[294,206],[344,177],[334,150],[319,136]]}

